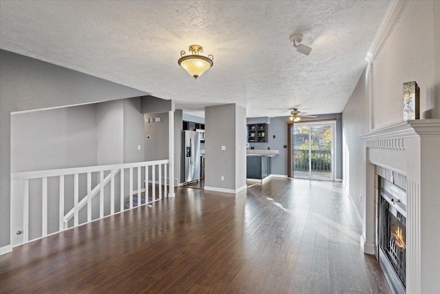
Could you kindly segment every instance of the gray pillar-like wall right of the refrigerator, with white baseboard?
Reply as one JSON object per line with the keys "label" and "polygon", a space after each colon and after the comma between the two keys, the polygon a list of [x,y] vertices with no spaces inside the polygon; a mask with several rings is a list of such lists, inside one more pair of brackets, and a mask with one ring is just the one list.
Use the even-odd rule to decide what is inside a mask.
{"label": "gray pillar-like wall right of the refrigerator, with white baseboard", "polygon": [[[205,107],[206,187],[235,190],[241,184],[236,180],[236,173],[244,173],[246,170],[245,159],[243,160],[241,156],[236,157],[238,154],[236,150],[245,142],[243,140],[245,140],[246,120],[245,117],[243,118],[241,108],[235,104]],[[241,135],[238,142],[237,136]],[[221,146],[225,146],[226,149],[221,150]],[[245,156],[245,148],[241,147],[240,150]],[[221,176],[224,176],[223,181]],[[241,178],[241,175],[238,176]],[[245,179],[245,174],[243,178]]]}

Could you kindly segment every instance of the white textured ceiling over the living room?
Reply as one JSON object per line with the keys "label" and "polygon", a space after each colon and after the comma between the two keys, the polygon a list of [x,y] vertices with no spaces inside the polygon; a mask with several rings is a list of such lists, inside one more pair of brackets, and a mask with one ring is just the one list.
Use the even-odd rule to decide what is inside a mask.
{"label": "white textured ceiling over the living room", "polygon": [[[1,1],[0,47],[134,87],[192,111],[342,112],[388,1]],[[305,56],[289,36],[304,35]],[[203,46],[197,81],[177,65]]]}

